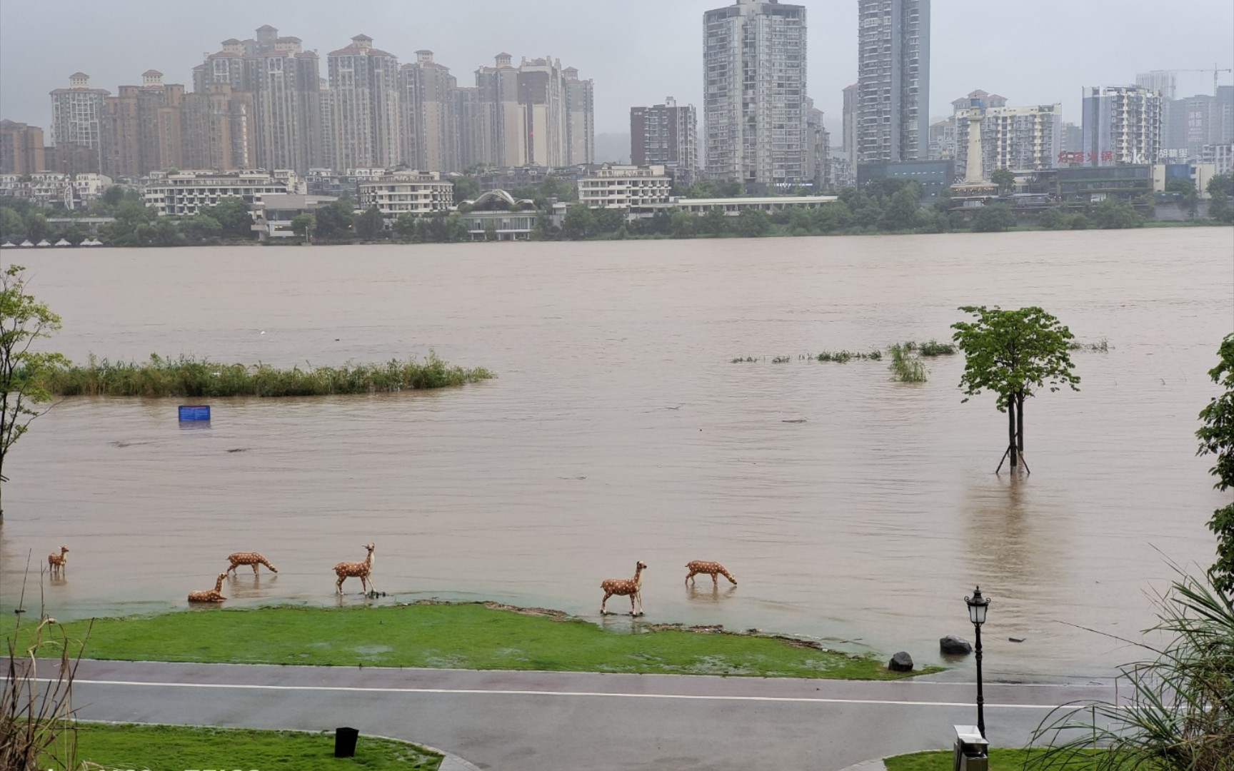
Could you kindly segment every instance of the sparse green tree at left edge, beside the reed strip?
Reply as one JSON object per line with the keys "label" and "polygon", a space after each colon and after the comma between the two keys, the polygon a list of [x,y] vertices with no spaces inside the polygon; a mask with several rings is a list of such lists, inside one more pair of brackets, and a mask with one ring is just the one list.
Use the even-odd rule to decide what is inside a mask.
{"label": "sparse green tree at left edge, beside the reed strip", "polygon": [[0,274],[0,493],[9,450],[46,412],[39,405],[52,398],[37,382],[48,370],[68,365],[58,353],[31,350],[36,340],[59,331],[60,317],[27,291],[25,270],[9,265]]}

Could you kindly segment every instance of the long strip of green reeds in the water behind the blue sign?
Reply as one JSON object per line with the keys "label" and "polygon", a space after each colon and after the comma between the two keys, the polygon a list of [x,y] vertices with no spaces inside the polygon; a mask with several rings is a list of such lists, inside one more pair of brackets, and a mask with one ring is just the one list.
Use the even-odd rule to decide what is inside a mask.
{"label": "long strip of green reeds in the water behind the blue sign", "polygon": [[448,364],[429,352],[428,358],[394,359],[385,364],[294,366],[269,364],[218,364],[209,359],[152,355],[149,361],[90,360],[44,376],[41,385],[57,396],[332,396],[386,394],[442,389],[495,377],[481,368]]}

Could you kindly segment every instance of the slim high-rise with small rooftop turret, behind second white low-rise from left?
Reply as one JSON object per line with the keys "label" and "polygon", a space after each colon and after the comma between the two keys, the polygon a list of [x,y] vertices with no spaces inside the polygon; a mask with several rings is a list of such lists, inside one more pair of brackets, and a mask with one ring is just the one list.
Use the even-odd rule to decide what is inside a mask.
{"label": "slim high-rise with small rooftop turret, behind second white low-rise from left", "polygon": [[399,69],[402,107],[402,162],[421,171],[459,171],[452,116],[458,86],[448,67],[433,62],[432,51],[417,51],[416,62]]}

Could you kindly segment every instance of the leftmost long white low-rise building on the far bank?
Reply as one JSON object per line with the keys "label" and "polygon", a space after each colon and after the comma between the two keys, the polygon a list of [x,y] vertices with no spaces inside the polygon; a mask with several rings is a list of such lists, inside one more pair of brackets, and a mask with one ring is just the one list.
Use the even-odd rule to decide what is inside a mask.
{"label": "leftmost long white low-rise building on the far bank", "polygon": [[142,199],[159,216],[193,217],[223,199],[242,199],[252,208],[258,196],[302,194],[304,183],[290,169],[269,171],[155,171],[142,178]]}

